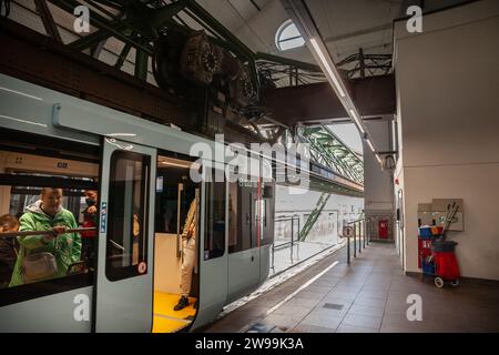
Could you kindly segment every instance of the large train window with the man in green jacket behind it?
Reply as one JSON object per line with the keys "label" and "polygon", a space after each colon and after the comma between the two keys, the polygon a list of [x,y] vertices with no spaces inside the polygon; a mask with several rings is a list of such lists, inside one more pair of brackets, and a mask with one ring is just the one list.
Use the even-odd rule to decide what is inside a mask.
{"label": "large train window with the man in green jacket behind it", "polygon": [[85,193],[98,199],[99,164],[71,156],[71,148],[65,155],[30,152],[0,150],[0,305],[93,282],[94,253],[88,246],[94,245],[96,225],[84,225],[91,202]]}

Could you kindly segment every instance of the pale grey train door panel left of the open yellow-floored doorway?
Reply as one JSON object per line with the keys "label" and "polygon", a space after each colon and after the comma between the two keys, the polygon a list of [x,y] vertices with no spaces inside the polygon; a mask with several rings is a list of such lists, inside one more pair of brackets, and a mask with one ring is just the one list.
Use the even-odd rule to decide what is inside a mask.
{"label": "pale grey train door panel left of the open yellow-floored doorway", "polygon": [[104,139],[95,332],[151,332],[155,172],[155,149]]}

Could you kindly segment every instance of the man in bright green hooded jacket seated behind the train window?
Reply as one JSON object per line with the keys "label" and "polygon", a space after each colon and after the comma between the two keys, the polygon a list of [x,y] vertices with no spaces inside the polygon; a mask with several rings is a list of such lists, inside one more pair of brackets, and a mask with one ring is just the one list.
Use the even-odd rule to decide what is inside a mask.
{"label": "man in bright green hooded jacket seated behind the train window", "polygon": [[[24,214],[20,219],[19,231],[51,231],[51,234],[26,235],[18,236],[20,251],[16,262],[10,287],[22,285],[24,283],[38,282],[62,277],[67,274],[72,263],[80,261],[81,237],[78,233],[67,233],[67,229],[78,229],[73,214],[62,207],[62,190],[43,187],[41,199],[29,205],[24,210]],[[41,254],[44,253],[44,254]],[[39,255],[53,255],[54,268],[51,274],[32,280],[29,274],[38,272],[28,267],[33,267],[34,262],[26,262],[35,260]],[[40,265],[43,265],[42,263]],[[44,266],[44,265],[43,265]],[[47,267],[49,268],[49,267]]]}

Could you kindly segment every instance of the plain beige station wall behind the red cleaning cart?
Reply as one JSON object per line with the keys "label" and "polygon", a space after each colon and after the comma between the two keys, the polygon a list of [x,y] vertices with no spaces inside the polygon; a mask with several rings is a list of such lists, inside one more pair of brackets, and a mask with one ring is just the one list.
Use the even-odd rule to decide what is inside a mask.
{"label": "plain beige station wall behind the red cleaning cart", "polygon": [[482,0],[422,17],[422,33],[395,23],[404,191],[404,261],[417,262],[417,207],[464,199],[462,276],[499,280],[499,2]]}

